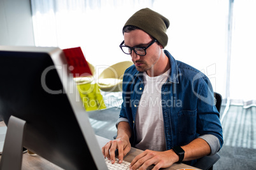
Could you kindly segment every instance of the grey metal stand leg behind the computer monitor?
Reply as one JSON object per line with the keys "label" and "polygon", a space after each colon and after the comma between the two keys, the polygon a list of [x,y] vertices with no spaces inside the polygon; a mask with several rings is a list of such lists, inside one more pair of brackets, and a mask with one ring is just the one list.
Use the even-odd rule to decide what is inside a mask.
{"label": "grey metal stand leg behind the computer monitor", "polygon": [[8,122],[3,154],[0,162],[1,170],[21,169],[25,123],[24,120],[11,115]]}

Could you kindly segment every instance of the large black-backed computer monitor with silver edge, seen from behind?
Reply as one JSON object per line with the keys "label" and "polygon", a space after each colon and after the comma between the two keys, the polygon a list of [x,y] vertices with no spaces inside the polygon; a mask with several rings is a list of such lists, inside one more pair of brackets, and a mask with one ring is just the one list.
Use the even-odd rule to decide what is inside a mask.
{"label": "large black-backed computer monitor with silver edge, seen from behind", "polygon": [[61,49],[0,46],[0,79],[0,119],[15,138],[2,167],[12,145],[64,169],[107,169]]}

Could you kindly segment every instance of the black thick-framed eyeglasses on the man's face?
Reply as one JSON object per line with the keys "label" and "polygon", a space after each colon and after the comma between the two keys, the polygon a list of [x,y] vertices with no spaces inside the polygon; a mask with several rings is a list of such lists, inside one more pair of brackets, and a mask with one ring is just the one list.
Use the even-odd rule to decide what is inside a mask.
{"label": "black thick-framed eyeglasses on the man's face", "polygon": [[156,39],[153,39],[150,44],[148,44],[148,46],[146,47],[129,47],[129,46],[123,46],[124,41],[119,45],[119,47],[122,49],[122,51],[127,54],[127,55],[131,55],[132,50],[134,50],[134,52],[137,55],[140,56],[145,56],[146,55],[146,49],[148,49],[153,43],[157,42]]}

